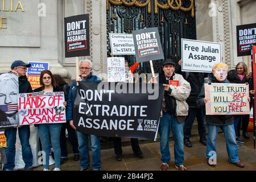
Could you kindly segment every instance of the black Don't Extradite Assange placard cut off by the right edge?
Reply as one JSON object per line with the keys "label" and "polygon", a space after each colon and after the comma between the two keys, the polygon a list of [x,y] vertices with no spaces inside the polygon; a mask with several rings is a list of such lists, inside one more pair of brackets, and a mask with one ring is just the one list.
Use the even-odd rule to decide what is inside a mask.
{"label": "black Don't Extradite Assange placard cut off by the right edge", "polygon": [[237,26],[237,56],[251,55],[251,45],[256,43],[256,23]]}

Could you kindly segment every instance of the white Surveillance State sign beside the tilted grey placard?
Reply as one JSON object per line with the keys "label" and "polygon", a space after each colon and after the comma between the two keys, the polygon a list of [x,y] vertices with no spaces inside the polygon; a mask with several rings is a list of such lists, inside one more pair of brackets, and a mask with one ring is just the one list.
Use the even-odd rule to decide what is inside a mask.
{"label": "white Surveillance State sign beside the tilted grey placard", "polygon": [[133,34],[109,33],[109,39],[113,55],[135,55]]}

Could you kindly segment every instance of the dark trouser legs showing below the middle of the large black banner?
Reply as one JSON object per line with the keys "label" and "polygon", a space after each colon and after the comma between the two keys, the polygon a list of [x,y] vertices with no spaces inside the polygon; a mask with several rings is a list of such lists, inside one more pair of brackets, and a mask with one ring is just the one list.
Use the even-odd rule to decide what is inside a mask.
{"label": "dark trouser legs showing below the middle of the large black banner", "polygon": [[[122,155],[122,142],[120,137],[114,137],[114,150],[116,155]],[[131,138],[131,148],[133,148],[134,154],[142,153],[141,148],[139,148],[138,138]]]}

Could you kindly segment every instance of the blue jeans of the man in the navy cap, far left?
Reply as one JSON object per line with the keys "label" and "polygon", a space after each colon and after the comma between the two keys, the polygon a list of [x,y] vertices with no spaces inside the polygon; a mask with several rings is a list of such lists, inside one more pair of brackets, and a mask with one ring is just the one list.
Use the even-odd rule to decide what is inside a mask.
{"label": "blue jeans of the man in the navy cap, far left", "polygon": [[[5,169],[13,170],[15,167],[15,144],[17,128],[5,129],[7,140]],[[25,169],[32,166],[33,155],[30,147],[30,125],[18,128],[19,140],[22,146],[22,159],[25,163]]]}

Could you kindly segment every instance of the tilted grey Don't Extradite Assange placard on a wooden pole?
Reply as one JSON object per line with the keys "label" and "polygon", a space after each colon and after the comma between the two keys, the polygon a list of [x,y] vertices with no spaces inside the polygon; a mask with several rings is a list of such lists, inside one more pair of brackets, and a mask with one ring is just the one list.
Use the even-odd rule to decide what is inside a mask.
{"label": "tilted grey Don't Extradite Assange placard on a wooden pole", "polygon": [[138,63],[164,59],[157,27],[133,31],[133,40]]}

